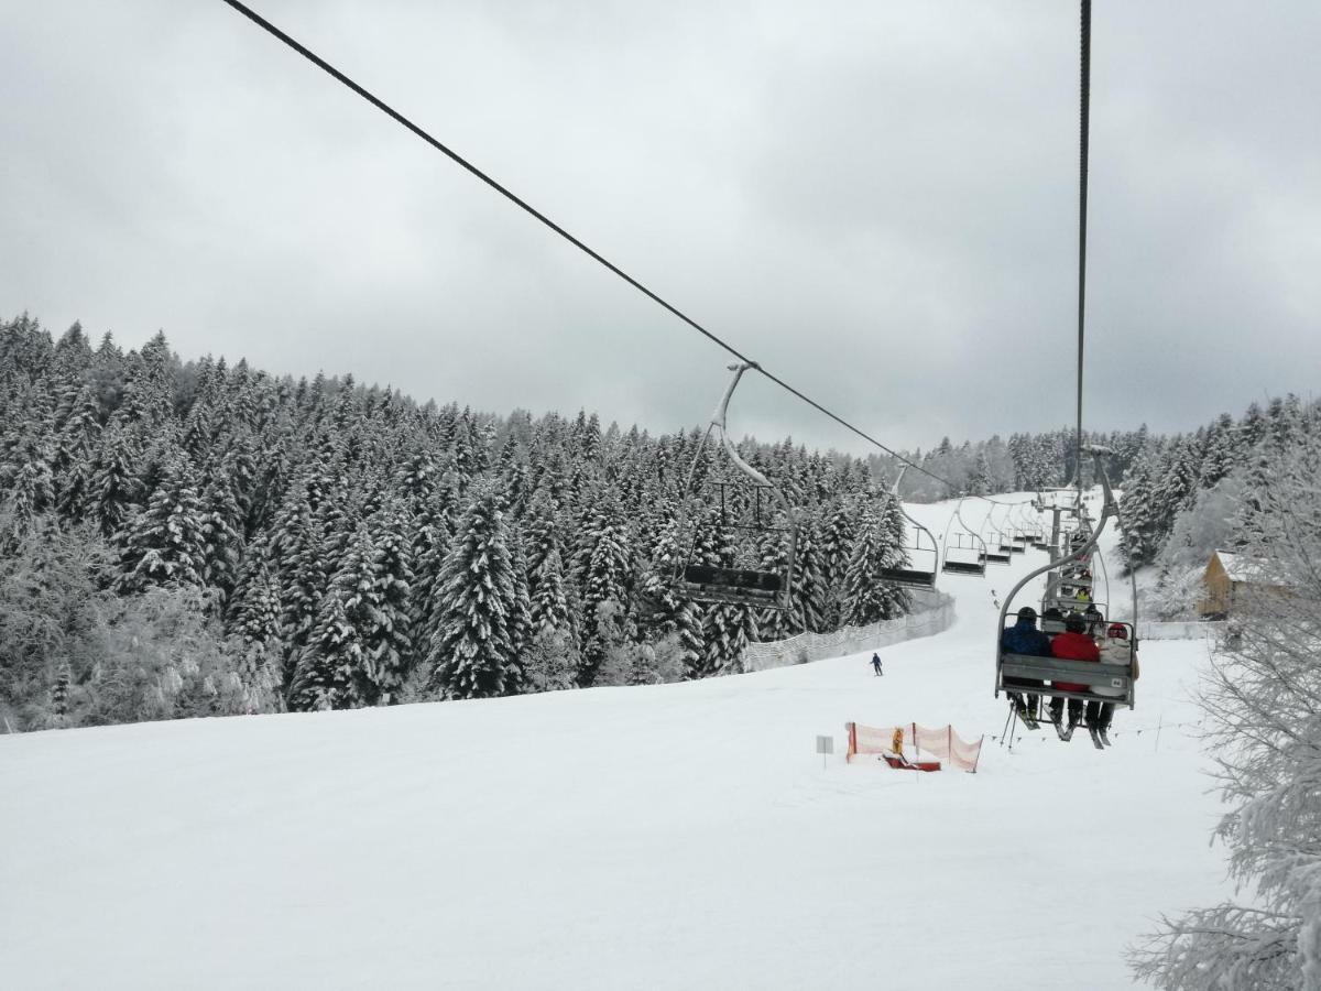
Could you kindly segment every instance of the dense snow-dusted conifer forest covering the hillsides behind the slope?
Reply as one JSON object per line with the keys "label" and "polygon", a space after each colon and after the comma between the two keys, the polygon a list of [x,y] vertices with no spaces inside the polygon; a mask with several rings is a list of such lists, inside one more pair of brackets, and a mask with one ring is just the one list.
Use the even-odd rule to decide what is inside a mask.
{"label": "dense snow-dusted conifer forest covering the hillsides behind the slope", "polygon": [[[786,552],[782,531],[721,518],[700,411],[659,436],[587,411],[474,412],[351,374],[180,359],[161,333],[136,350],[78,324],[57,340],[28,314],[0,325],[0,403],[15,731],[707,678],[740,671],[749,641],[911,608],[876,579],[905,560],[897,465],[789,437],[740,452],[798,513],[794,606],[676,596],[686,560]],[[1209,539],[1250,540],[1259,480],[1318,427],[1289,396],[1184,436],[1092,435],[1168,613]],[[1021,492],[1073,476],[1069,439],[905,453],[970,494]],[[905,499],[959,494],[911,474]]]}

